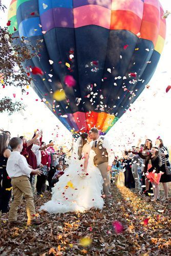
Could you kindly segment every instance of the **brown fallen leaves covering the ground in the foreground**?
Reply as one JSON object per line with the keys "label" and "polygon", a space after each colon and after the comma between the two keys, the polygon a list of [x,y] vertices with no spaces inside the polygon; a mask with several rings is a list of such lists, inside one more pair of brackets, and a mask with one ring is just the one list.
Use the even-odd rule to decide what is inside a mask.
{"label": "brown fallen leaves covering the ground in the foreground", "polygon": [[[112,191],[111,207],[60,215],[43,211],[37,227],[26,226],[23,200],[18,209],[23,226],[1,222],[1,255],[170,255],[170,201],[150,202],[125,187],[112,185]],[[35,196],[37,212],[50,198],[49,192]],[[113,223],[123,226],[123,232],[116,233]]]}

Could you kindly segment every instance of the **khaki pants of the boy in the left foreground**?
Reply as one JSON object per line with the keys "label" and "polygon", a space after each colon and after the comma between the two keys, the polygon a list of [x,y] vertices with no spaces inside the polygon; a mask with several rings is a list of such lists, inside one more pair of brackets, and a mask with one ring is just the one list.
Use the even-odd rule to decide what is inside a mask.
{"label": "khaki pants of the boy in the left foreground", "polygon": [[32,193],[31,184],[29,178],[27,176],[20,176],[17,178],[12,178],[11,180],[14,200],[11,203],[11,207],[9,210],[9,221],[17,220],[17,209],[22,200],[22,195],[24,195],[26,199],[26,210],[28,220],[35,219],[35,208],[34,208],[34,198]]}

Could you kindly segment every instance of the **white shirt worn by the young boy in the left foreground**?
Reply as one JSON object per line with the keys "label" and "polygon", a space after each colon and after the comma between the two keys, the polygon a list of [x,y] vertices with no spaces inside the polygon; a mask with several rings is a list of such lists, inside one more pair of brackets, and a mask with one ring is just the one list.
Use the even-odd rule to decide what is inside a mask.
{"label": "white shirt worn by the young boy in the left foreground", "polygon": [[11,152],[7,161],[7,173],[10,178],[17,178],[20,176],[30,177],[32,169],[29,167],[24,156],[20,155],[18,151]]}

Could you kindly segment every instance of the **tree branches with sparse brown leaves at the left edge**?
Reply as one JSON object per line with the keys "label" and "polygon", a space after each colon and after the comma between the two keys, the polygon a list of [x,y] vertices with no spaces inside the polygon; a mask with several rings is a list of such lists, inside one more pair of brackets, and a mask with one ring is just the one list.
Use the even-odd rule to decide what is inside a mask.
{"label": "tree branches with sparse brown leaves at the left edge", "polygon": [[[6,6],[4,6],[0,0],[0,11],[3,12],[5,10]],[[4,87],[5,85],[20,87],[22,93],[25,93],[25,87],[28,86],[33,79],[30,77],[29,71],[27,73],[25,72],[22,63],[26,59],[31,59],[34,56],[38,57],[40,45],[37,41],[35,48],[28,40],[27,44],[25,44],[24,37],[20,39],[20,44],[13,45],[12,43],[14,39],[15,38],[9,34],[7,27],[2,28],[0,26],[0,73],[4,74],[4,82],[2,81]],[[6,102],[7,99],[8,103],[6,104],[6,111],[8,113],[9,111],[14,111],[14,109],[15,111],[19,111],[19,108],[14,108],[15,103],[13,103],[12,100],[9,100],[9,98],[4,98],[0,103],[0,113],[3,110],[2,103]],[[18,104],[18,106],[24,108],[21,102]]]}

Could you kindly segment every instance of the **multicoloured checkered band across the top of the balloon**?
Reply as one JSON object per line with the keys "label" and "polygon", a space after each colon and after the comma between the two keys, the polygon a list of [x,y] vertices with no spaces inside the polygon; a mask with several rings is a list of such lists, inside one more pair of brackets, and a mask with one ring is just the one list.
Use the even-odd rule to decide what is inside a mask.
{"label": "multicoloured checkered band across the top of the balloon", "polygon": [[[17,9],[24,3],[30,6],[29,2],[32,1],[12,0],[8,13],[8,19],[11,20],[10,33],[14,32],[15,27],[20,36],[30,37],[56,27],[79,28],[96,25],[110,30],[128,30],[135,35],[140,33],[141,38],[153,41],[156,51],[162,52],[166,23],[162,18],[163,9],[156,0],[39,0],[39,13],[35,13],[33,17],[29,8],[30,15],[26,13],[26,18],[20,17],[17,22]],[[44,9],[43,4],[47,8]],[[33,8],[32,11],[34,12]]]}

